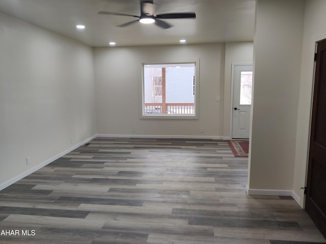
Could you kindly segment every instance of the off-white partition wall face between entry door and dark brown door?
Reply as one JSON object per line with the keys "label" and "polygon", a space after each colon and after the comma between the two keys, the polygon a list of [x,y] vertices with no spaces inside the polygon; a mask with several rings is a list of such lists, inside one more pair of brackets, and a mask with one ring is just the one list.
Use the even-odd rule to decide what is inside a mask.
{"label": "off-white partition wall face between entry door and dark brown door", "polygon": [[249,189],[292,191],[304,1],[258,0]]}

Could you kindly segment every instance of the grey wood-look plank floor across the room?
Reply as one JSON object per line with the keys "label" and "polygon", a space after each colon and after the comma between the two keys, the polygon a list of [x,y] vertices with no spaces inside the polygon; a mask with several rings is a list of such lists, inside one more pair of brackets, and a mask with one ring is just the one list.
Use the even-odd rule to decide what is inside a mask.
{"label": "grey wood-look plank floor across the room", "polygon": [[325,243],[247,171],[224,141],[96,138],[0,191],[0,243]]}

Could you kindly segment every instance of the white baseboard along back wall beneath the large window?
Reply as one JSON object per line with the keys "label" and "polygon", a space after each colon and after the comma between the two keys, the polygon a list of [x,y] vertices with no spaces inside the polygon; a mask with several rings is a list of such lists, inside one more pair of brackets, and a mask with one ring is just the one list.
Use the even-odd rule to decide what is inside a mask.
{"label": "white baseboard along back wall beneath the large window", "polygon": [[112,134],[98,134],[97,137],[116,137],[116,138],[166,138],[166,139],[212,139],[222,140],[222,136],[182,136],[182,135],[112,135]]}

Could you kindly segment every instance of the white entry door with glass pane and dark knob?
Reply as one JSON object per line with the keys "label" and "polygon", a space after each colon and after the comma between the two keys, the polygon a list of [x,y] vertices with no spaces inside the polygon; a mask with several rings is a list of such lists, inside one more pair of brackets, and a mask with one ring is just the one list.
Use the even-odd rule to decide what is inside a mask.
{"label": "white entry door with glass pane and dark knob", "polygon": [[249,139],[253,66],[232,65],[232,72],[232,138]]}

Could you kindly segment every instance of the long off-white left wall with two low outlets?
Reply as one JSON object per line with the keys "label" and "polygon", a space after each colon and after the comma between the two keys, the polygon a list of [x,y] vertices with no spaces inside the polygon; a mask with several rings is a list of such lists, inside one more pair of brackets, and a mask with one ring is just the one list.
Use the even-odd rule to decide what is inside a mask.
{"label": "long off-white left wall with two low outlets", "polygon": [[96,134],[95,85],[92,48],[2,13],[0,53],[4,186]]}

